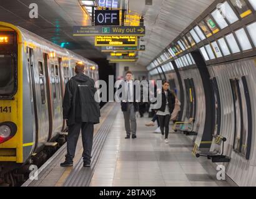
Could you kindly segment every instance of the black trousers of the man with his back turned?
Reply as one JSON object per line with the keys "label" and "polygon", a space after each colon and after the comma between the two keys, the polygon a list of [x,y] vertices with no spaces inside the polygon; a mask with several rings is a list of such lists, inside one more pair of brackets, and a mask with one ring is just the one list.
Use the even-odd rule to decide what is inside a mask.
{"label": "black trousers of the man with his back turned", "polygon": [[91,164],[92,141],[94,133],[94,124],[92,123],[76,123],[69,126],[69,132],[67,134],[66,160],[68,162],[73,162],[80,131],[82,132],[82,146],[84,147],[82,157],[86,164]]}

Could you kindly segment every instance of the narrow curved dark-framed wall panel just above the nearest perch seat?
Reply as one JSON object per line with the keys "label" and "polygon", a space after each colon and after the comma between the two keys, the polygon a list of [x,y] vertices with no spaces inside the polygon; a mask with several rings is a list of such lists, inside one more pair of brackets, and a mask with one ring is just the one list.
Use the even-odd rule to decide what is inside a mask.
{"label": "narrow curved dark-framed wall panel just above the nearest perch seat", "polygon": [[221,125],[221,104],[220,104],[220,93],[216,78],[211,78],[210,83],[212,85],[212,90],[214,91],[214,98],[212,104],[214,104],[214,135],[220,135],[220,125]]}

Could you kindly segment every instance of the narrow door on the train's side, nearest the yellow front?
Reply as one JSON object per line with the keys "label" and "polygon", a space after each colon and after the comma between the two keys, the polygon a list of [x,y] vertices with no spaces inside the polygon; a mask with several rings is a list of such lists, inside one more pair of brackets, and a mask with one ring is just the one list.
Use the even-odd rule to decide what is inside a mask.
{"label": "narrow door on the train's side, nearest the yellow front", "polygon": [[36,143],[35,143],[35,149],[37,148],[37,144],[38,144],[38,113],[37,113],[37,100],[36,100],[36,84],[35,84],[35,79],[34,79],[34,53],[33,53],[33,49],[27,47],[27,53],[29,54],[29,58],[27,60],[27,67],[28,67],[28,71],[29,71],[29,83],[30,83],[30,88],[31,88],[31,94],[32,94],[32,103],[34,106],[34,123],[35,123],[35,127],[36,127]]}

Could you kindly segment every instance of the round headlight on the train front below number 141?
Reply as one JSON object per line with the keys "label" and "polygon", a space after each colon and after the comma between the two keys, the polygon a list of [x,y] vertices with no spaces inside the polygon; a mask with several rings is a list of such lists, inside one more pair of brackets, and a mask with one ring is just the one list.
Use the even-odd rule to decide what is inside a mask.
{"label": "round headlight on the train front below number 141", "polygon": [[9,141],[17,132],[16,124],[12,122],[0,123],[0,144]]}

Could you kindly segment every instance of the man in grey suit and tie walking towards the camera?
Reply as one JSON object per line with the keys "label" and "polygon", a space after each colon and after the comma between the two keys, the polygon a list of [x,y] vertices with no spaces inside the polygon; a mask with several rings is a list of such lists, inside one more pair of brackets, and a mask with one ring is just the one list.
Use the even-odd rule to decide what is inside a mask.
{"label": "man in grey suit and tie walking towards the camera", "polygon": [[124,114],[124,126],[126,127],[126,139],[130,139],[130,134],[132,134],[132,139],[137,138],[137,123],[135,113],[139,111],[139,104],[136,98],[135,85],[132,81],[132,72],[126,72],[126,97],[127,100],[121,101],[121,109]]}

